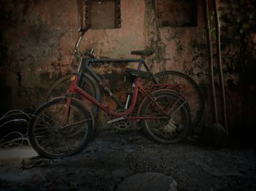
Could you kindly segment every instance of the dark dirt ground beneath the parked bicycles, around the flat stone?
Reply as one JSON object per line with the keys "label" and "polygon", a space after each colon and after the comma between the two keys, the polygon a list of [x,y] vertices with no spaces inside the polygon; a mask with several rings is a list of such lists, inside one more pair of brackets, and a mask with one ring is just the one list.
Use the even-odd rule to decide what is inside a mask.
{"label": "dark dirt ground beneath the parked bicycles, around the flat stone", "polygon": [[116,190],[144,172],[172,176],[178,190],[256,190],[256,152],[248,147],[206,147],[191,140],[165,145],[140,130],[110,130],[61,160],[31,157],[33,150],[27,150],[31,155],[1,156],[0,190]]}

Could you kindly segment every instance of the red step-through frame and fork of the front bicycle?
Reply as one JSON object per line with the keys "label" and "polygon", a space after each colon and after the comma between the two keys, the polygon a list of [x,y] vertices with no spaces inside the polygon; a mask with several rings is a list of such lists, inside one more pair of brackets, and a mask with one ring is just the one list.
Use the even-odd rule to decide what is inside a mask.
{"label": "red step-through frame and fork of the front bicycle", "polygon": [[[72,85],[69,89],[69,95],[67,96],[67,110],[65,113],[65,119],[68,118],[69,115],[69,104],[71,102],[71,98],[72,98],[72,94],[73,93],[79,93],[80,95],[82,95],[84,98],[88,99],[91,103],[99,106],[100,109],[102,109],[104,112],[110,114],[113,117],[125,117],[125,119],[127,120],[157,120],[157,119],[167,119],[167,113],[164,111],[164,109],[162,109],[161,106],[159,106],[159,104],[157,104],[157,102],[154,100],[154,98],[151,97],[151,95],[145,90],[145,88],[141,85],[140,83],[140,77],[137,77],[135,79],[135,89],[134,92],[132,94],[132,101],[131,104],[129,106],[129,109],[127,109],[124,112],[114,112],[112,109],[110,109],[109,106],[105,106],[103,104],[101,104],[99,101],[97,101],[97,99],[95,99],[93,96],[89,95],[89,93],[86,93],[85,91],[83,91],[80,87],[78,87],[77,83],[78,83],[79,77],[75,76],[75,79],[72,81]],[[132,113],[132,111],[135,109],[135,104],[136,101],[138,99],[138,93],[141,92],[143,94],[145,94],[148,98],[151,99],[151,101],[153,101],[154,105],[158,107],[158,109],[162,112],[162,114],[164,114],[165,116],[162,117],[152,117],[152,116],[134,116],[134,117],[129,117],[128,115]]]}

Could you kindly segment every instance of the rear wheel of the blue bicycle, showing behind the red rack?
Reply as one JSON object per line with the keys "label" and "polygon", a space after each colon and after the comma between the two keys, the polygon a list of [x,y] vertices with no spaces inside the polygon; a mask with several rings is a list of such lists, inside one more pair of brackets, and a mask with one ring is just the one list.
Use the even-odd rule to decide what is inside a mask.
{"label": "rear wheel of the blue bicycle, showing behind the red rack", "polygon": [[[181,84],[186,87],[184,97],[187,99],[192,115],[192,128],[195,129],[203,119],[205,102],[203,93],[197,83],[180,71],[160,71],[154,74],[159,84]],[[180,92],[183,93],[183,92]]]}

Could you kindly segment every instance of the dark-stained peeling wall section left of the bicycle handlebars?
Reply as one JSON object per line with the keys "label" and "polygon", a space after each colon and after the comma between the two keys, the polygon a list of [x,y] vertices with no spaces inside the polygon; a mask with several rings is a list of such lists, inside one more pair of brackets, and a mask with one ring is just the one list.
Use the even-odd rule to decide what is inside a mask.
{"label": "dark-stained peeling wall section left of the bicycle handlebars", "polygon": [[[11,108],[33,110],[55,79],[67,73],[75,42],[72,1],[2,1],[2,75],[11,86]],[[61,7],[61,9],[60,9]],[[4,18],[4,19],[3,19]],[[8,73],[8,74],[7,74]]]}

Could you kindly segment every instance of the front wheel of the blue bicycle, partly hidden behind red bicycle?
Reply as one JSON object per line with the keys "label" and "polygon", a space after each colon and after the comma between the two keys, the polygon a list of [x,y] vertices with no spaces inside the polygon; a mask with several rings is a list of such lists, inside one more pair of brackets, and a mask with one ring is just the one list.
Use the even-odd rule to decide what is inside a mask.
{"label": "front wheel of the blue bicycle, partly hidden behind red bicycle", "polygon": [[[57,81],[54,82],[53,86],[50,87],[50,90],[48,90],[46,101],[49,101],[51,98],[66,95],[69,91],[69,87],[71,86],[71,77],[73,76],[74,74],[67,74],[64,77],[60,77],[59,79],[57,79]],[[91,80],[88,77],[82,76],[78,82],[78,86],[82,90],[86,91],[86,93],[89,93],[94,98],[97,98],[97,91],[94,86],[94,83],[91,82]],[[91,111],[92,109],[94,109],[94,107],[96,107],[94,106],[94,104],[91,104],[91,102],[87,101],[86,99],[83,99],[80,95],[75,95],[75,98],[78,98],[80,101],[82,101],[83,104],[89,107]],[[94,110],[94,112],[96,112],[96,110]]]}

